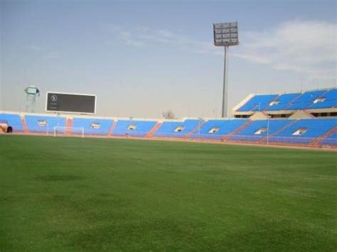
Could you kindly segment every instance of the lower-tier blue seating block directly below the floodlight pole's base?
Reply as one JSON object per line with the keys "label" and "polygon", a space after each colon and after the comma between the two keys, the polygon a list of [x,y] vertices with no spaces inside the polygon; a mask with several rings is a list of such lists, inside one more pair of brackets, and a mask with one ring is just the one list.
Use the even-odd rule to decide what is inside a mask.
{"label": "lower-tier blue seating block directly below the floodlight pole's base", "polygon": [[248,119],[209,120],[191,138],[220,139],[246,124]]}

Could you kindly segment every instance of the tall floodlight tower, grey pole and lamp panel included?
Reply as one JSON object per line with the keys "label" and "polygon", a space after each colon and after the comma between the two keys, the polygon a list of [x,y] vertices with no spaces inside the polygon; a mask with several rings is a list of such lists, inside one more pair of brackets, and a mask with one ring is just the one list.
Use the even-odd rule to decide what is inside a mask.
{"label": "tall floodlight tower, grey pole and lamp panel included", "polygon": [[222,117],[227,117],[228,92],[228,47],[230,45],[239,45],[237,22],[232,23],[213,23],[214,45],[225,47],[225,60],[223,68],[223,111]]}

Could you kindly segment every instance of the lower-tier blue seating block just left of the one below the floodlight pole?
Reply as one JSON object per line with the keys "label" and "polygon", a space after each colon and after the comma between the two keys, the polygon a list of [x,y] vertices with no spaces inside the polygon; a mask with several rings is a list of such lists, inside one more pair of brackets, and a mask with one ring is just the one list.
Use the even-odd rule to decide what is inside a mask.
{"label": "lower-tier blue seating block just left of the one below the floodlight pole", "polygon": [[193,131],[203,121],[187,119],[185,121],[164,121],[154,133],[154,136],[182,138]]}

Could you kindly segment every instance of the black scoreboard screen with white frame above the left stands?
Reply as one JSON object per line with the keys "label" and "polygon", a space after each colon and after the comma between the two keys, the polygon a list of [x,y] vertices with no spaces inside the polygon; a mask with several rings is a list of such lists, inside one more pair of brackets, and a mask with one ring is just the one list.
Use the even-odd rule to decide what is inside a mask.
{"label": "black scoreboard screen with white frame above the left stands", "polygon": [[46,111],[95,114],[96,95],[47,92]]}

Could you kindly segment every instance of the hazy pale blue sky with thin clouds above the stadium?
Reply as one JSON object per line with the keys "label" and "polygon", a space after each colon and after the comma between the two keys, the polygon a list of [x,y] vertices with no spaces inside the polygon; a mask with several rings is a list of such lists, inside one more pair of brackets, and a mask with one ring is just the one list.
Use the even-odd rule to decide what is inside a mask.
{"label": "hazy pale blue sky with thin clouds above the stadium", "polygon": [[97,115],[220,116],[223,48],[213,23],[237,21],[229,108],[250,93],[336,87],[336,1],[0,0],[0,109],[23,89],[97,94]]}

